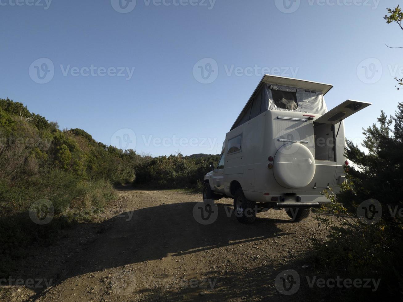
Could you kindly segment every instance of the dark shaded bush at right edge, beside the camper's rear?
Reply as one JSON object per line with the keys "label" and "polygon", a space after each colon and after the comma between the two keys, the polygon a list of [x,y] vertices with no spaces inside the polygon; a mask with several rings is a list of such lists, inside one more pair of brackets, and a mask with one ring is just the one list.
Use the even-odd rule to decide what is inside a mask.
{"label": "dark shaded bush at right edge, beside the camper's rear", "polygon": [[[329,229],[329,240],[315,244],[314,265],[317,269],[350,279],[380,278],[376,292],[355,289],[345,292],[343,300],[379,300],[403,296],[403,218],[391,215],[403,207],[403,104],[399,103],[395,116],[387,118],[381,112],[376,124],[364,130],[364,152],[347,141],[345,155],[358,165],[346,167],[349,183],[339,194],[326,192],[332,204],[324,211],[337,223],[317,216],[318,225]],[[393,125],[393,126],[392,126]],[[376,224],[367,225],[356,216],[359,205],[377,199],[382,217]]]}

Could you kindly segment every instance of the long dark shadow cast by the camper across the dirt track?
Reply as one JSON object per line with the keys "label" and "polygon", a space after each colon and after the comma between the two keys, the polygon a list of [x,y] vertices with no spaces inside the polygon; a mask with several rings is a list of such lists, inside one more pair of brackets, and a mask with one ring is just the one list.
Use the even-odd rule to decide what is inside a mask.
{"label": "long dark shadow cast by the camper across the dirt track", "polygon": [[[37,275],[24,277],[53,278],[52,285],[57,285],[70,277],[103,269],[288,234],[276,226],[289,223],[288,220],[258,217],[253,224],[239,223],[228,201],[218,201],[215,208],[218,214],[208,224],[197,221],[200,219],[195,213],[203,203],[195,202],[163,204],[118,214],[100,224],[96,240],[69,257],[56,277],[55,271],[47,268]],[[42,290],[37,289],[35,298],[42,296]]]}

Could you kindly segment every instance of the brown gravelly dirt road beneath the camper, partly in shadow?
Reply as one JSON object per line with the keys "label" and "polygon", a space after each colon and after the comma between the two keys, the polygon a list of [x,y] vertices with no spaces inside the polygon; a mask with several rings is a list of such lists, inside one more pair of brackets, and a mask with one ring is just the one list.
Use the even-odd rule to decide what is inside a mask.
{"label": "brown gravelly dirt road beneath the camper, partly in shadow", "polygon": [[51,288],[15,292],[12,299],[284,300],[274,279],[286,269],[303,271],[299,256],[310,250],[310,239],[324,238],[312,217],[293,223],[284,210],[241,224],[231,213],[233,200],[222,199],[216,220],[202,225],[193,215],[200,194],[129,187],[118,194],[108,217],[77,226],[20,264],[31,267],[21,277],[52,279]]}

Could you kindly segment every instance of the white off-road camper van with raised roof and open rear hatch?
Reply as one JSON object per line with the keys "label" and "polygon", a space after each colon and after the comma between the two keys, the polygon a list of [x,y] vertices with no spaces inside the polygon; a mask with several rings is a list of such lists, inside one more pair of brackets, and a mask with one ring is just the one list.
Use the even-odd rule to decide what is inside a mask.
{"label": "white off-road camper van with raised roof and open rear hatch", "polygon": [[203,199],[233,197],[235,216],[252,223],[262,209],[285,209],[295,221],[340,190],[343,120],[371,105],[347,100],[328,111],[332,85],[265,75],[226,134],[222,156],[204,178]]}

